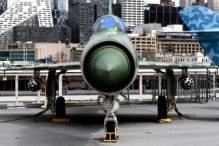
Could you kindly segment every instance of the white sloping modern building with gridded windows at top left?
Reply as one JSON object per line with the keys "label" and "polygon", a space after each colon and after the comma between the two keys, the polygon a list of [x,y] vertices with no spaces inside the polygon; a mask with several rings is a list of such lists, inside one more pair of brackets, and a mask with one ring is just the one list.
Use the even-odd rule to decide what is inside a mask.
{"label": "white sloping modern building with gridded windows at top left", "polygon": [[50,0],[16,1],[0,16],[1,42],[12,40],[10,37],[15,26],[53,27]]}

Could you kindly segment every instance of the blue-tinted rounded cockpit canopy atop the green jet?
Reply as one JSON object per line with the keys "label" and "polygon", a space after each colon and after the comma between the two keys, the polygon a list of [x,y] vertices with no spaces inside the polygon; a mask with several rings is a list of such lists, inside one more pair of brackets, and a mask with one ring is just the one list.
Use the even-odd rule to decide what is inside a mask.
{"label": "blue-tinted rounded cockpit canopy atop the green jet", "polygon": [[93,33],[104,30],[126,33],[126,28],[123,21],[114,15],[106,15],[99,18],[93,26]]}

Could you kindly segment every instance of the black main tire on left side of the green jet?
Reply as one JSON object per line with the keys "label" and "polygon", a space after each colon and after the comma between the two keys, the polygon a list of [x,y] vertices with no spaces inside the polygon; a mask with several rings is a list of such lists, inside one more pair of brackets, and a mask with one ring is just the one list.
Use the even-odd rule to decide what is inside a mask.
{"label": "black main tire on left side of the green jet", "polygon": [[65,98],[60,96],[56,100],[56,118],[65,118],[66,110],[65,110]]}

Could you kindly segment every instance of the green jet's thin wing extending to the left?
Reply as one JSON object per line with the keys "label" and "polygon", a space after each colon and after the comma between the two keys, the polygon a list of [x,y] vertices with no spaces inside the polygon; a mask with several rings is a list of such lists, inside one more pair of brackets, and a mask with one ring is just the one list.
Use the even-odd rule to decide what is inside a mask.
{"label": "green jet's thin wing extending to the left", "polygon": [[36,66],[25,66],[25,67],[10,67],[2,70],[77,70],[81,69],[80,62],[67,62],[60,64],[45,64]]}

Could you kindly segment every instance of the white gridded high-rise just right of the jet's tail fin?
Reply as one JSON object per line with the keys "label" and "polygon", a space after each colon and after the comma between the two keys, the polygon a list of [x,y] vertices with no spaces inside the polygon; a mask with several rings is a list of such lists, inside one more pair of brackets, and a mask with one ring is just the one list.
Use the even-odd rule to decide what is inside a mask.
{"label": "white gridded high-rise just right of the jet's tail fin", "polygon": [[121,0],[122,19],[127,28],[144,23],[144,0]]}

